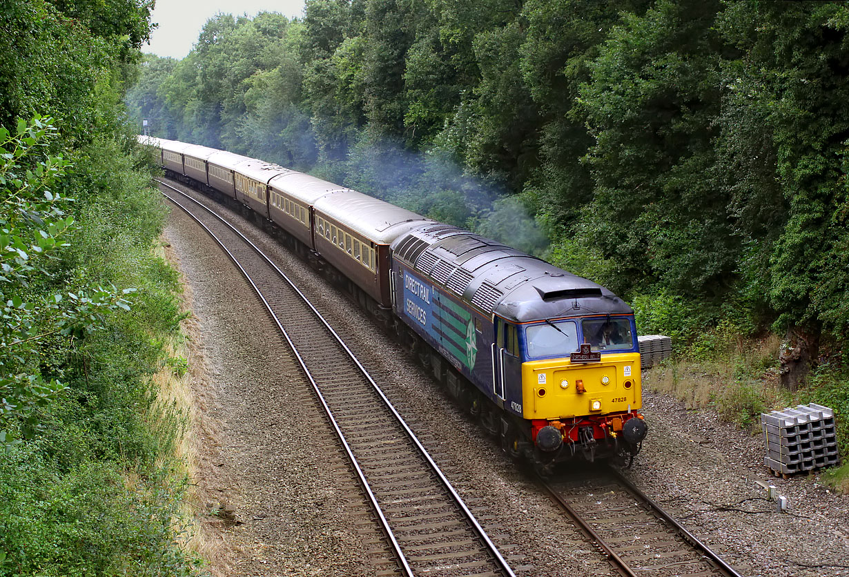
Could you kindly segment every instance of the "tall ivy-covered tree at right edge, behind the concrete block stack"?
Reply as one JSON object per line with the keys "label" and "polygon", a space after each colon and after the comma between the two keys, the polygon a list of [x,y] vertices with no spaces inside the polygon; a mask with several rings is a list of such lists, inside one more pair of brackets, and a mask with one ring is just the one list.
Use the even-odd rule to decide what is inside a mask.
{"label": "tall ivy-covered tree at right edge, behind the concrete block stack", "polygon": [[[849,96],[849,8],[732,3],[721,25],[747,55],[727,67],[726,118],[742,129],[728,131],[724,150],[743,159],[734,210],[752,246],[750,291],[763,291],[779,315],[782,378],[796,388],[824,329],[849,337],[849,112],[841,104]],[[756,162],[746,160],[752,153],[760,153]]]}

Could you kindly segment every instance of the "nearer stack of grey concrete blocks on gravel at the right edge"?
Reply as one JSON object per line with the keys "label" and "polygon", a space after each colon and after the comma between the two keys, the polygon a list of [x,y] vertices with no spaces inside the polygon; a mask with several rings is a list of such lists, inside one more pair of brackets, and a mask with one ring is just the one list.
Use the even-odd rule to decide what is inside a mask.
{"label": "nearer stack of grey concrete blocks on gravel at the right edge", "polygon": [[761,414],[767,448],[764,464],[784,476],[831,467],[840,462],[837,453],[835,412],[811,403]]}

